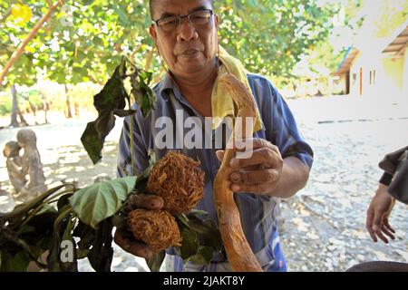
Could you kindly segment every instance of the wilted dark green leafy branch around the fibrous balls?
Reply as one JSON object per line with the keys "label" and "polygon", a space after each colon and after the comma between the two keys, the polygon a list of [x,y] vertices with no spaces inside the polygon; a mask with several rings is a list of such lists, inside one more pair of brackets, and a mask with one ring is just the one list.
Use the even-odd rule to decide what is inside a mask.
{"label": "wilted dark green leafy branch around the fibrous balls", "polygon": [[[151,73],[137,69],[126,57],[116,68],[102,92],[94,96],[98,119],[88,124],[83,145],[94,162],[100,160],[103,142],[117,116],[130,116],[130,94],[124,81],[130,79],[130,94],[143,116],[154,109],[155,96],[149,87]],[[30,262],[48,271],[78,271],[77,260],[88,258],[96,271],[111,271],[112,229],[126,227],[131,196],[146,193],[147,180],[156,162],[150,152],[150,166],[138,177],[113,179],[76,189],[64,184],[45,191],[12,212],[0,214],[0,271],[25,271]],[[183,242],[176,251],[185,261],[209,263],[221,249],[217,226],[209,216],[192,211],[176,217]],[[73,246],[73,256],[63,259],[63,243]],[[46,264],[40,257],[47,255]],[[148,261],[152,271],[159,269],[161,252]]]}

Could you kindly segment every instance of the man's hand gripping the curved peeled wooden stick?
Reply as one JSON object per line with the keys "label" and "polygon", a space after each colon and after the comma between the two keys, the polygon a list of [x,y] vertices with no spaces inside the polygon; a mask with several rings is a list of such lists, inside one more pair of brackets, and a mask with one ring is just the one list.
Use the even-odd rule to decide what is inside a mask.
{"label": "man's hand gripping the curved peeled wooden stick", "polygon": [[[229,166],[233,169],[230,175],[231,190],[260,195],[272,195],[282,175],[283,159],[277,146],[267,140],[250,139],[252,150],[246,151],[246,159],[231,159]],[[249,143],[248,143],[249,142]],[[239,154],[239,153],[238,153]],[[217,151],[217,157],[222,160],[224,151]]]}

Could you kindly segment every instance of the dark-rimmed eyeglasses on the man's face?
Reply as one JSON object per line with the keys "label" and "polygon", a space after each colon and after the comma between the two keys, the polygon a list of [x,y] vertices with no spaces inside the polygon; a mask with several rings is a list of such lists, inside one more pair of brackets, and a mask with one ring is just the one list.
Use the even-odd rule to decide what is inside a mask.
{"label": "dark-rimmed eyeglasses on the man's face", "polygon": [[153,20],[153,22],[159,26],[162,31],[171,32],[179,30],[181,25],[181,19],[189,19],[189,23],[193,25],[204,25],[209,23],[213,12],[211,9],[199,10],[183,16],[169,16],[159,20]]}

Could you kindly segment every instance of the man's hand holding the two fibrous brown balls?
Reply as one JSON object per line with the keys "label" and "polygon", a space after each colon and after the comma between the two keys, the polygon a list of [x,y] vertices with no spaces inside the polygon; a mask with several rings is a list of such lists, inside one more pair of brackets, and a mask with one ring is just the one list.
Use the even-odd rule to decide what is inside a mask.
{"label": "man's hand holding the two fibrous brown balls", "polygon": [[[153,195],[138,194],[131,199],[131,208],[145,208],[159,210],[163,208],[163,199]],[[144,258],[151,257],[154,252],[146,244],[134,239],[130,231],[125,228],[117,228],[114,235],[115,243],[128,253]]]}

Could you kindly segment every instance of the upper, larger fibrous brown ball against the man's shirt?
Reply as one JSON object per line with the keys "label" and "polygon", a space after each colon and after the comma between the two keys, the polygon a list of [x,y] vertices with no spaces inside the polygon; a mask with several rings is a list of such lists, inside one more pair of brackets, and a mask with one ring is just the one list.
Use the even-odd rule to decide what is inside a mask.
{"label": "upper, larger fibrous brown ball against the man's shirt", "polygon": [[172,215],[189,213],[203,197],[204,171],[198,161],[170,151],[151,169],[147,188],[163,198],[164,209]]}

